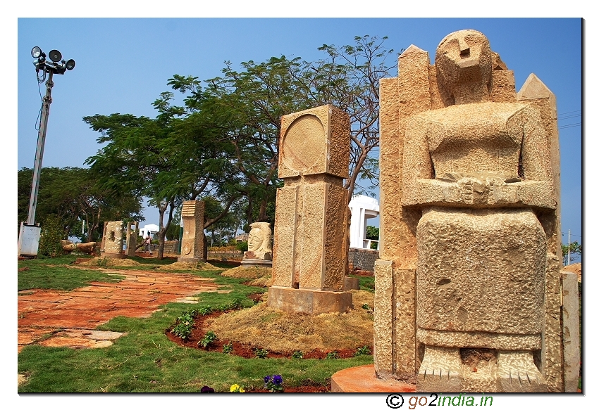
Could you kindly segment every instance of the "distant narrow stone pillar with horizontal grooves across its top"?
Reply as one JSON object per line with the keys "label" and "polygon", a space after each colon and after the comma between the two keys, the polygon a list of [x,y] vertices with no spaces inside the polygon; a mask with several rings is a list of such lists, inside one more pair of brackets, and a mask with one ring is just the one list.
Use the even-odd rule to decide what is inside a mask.
{"label": "distant narrow stone pillar with horizontal grooves across its top", "polygon": [[181,238],[181,256],[178,262],[206,262],[204,250],[204,201],[185,200],[181,210],[183,238]]}

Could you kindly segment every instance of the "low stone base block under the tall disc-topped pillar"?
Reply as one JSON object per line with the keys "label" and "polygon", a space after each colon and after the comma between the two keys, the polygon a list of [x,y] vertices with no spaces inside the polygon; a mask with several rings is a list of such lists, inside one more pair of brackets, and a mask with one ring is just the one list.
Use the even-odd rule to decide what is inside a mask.
{"label": "low stone base block under the tall disc-topped pillar", "polygon": [[352,294],[330,290],[268,288],[268,307],[288,313],[345,313],[352,309]]}

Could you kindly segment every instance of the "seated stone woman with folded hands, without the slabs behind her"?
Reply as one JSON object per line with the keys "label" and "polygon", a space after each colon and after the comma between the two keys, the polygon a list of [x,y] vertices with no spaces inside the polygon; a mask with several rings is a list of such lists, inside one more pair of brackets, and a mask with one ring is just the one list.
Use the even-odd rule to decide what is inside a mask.
{"label": "seated stone woman with folded hands, without the slabs behind her", "polygon": [[[421,391],[515,392],[523,379],[524,390],[547,388],[533,352],[542,347],[550,257],[539,214],[557,207],[550,153],[536,109],[491,102],[492,63],[483,34],[449,34],[436,69],[450,105],[405,123],[402,205],[422,212]],[[489,366],[465,369],[472,349],[491,352]]]}

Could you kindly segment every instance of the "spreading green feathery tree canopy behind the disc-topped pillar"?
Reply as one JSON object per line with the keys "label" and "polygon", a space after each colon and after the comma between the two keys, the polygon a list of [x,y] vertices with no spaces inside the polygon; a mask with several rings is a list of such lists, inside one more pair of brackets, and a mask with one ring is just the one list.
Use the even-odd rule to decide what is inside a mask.
{"label": "spreading green feathery tree canopy behind the disc-topped pillar", "polygon": [[[220,77],[173,75],[154,101],[155,118],[93,115],[84,121],[106,143],[87,159],[99,186],[149,198],[159,208],[159,257],[173,212],[183,200],[210,197],[221,203],[204,229],[245,208],[246,226],[273,218],[278,179],[280,118],[332,104],[350,115],[350,177],[345,188],[368,193],[378,184],[378,80],[396,67],[383,39],[355,37],[353,46],[323,44],[324,57],[249,60],[235,70],[225,63]],[[203,86],[203,87],[202,87]],[[366,182],[366,184],[364,184]],[[166,217],[166,222],[163,219]],[[271,222],[274,222],[271,220]],[[223,221],[224,223],[224,221]],[[216,229],[215,229],[216,230]]]}

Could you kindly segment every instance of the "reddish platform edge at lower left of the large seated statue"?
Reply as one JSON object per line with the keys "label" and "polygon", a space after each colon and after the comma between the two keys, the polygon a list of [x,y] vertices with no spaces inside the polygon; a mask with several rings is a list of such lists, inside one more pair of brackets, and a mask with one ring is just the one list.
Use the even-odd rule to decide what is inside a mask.
{"label": "reddish platform edge at lower left of the large seated statue", "polygon": [[376,378],[373,364],[343,369],[331,377],[331,392],[334,393],[411,393],[415,391],[416,385],[402,383],[398,380]]}

